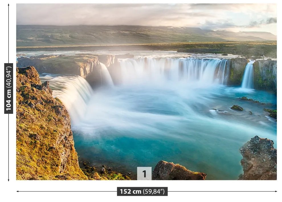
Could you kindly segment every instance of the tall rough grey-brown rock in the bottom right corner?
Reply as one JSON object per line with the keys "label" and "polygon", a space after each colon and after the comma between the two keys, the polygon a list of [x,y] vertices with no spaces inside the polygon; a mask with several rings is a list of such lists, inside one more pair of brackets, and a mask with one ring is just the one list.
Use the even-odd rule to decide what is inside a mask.
{"label": "tall rough grey-brown rock in the bottom right corner", "polygon": [[256,135],[240,148],[244,174],[239,180],[277,180],[277,149],[273,144]]}

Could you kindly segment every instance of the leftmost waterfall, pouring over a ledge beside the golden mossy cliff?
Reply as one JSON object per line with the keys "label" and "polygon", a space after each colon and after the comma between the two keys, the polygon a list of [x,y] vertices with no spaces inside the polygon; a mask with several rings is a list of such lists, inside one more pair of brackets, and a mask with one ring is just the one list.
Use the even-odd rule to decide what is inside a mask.
{"label": "leftmost waterfall, pouring over a ledge beside the golden mossy cliff", "polygon": [[46,75],[41,81],[48,80],[53,90],[53,97],[58,97],[66,106],[71,116],[71,123],[75,124],[83,117],[87,110],[87,102],[93,94],[91,86],[80,76]]}

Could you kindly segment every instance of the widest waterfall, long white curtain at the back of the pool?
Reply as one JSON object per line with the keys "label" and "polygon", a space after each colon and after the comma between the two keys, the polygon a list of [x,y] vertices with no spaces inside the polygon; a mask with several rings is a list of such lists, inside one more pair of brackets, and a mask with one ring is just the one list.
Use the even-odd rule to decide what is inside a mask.
{"label": "widest waterfall, long white curtain at the back of the pool", "polygon": [[229,59],[139,58],[121,59],[122,83],[195,82],[226,84]]}

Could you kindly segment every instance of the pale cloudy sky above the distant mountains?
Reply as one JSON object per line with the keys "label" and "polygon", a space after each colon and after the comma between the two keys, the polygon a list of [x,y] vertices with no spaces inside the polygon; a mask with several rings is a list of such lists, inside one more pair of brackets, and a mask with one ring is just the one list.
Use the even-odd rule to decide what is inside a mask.
{"label": "pale cloudy sky above the distant mountains", "polygon": [[17,4],[17,24],[200,27],[276,35],[277,9],[275,4]]}

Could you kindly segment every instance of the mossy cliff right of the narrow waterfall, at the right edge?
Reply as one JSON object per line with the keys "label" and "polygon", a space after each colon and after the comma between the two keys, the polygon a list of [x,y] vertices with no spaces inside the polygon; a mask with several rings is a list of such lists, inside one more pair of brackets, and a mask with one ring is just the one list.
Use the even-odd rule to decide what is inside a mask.
{"label": "mossy cliff right of the narrow waterfall, at the right edge", "polygon": [[254,88],[277,92],[277,61],[257,60],[254,67]]}

